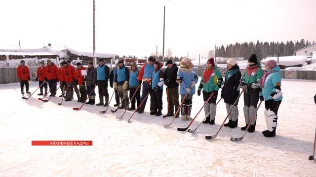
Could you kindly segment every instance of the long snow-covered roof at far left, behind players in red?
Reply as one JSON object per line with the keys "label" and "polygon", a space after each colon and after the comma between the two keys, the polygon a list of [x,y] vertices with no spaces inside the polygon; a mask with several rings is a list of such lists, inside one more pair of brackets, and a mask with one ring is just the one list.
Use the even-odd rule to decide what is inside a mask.
{"label": "long snow-covered roof at far left, behind players in red", "polygon": [[45,47],[39,49],[0,49],[0,55],[11,56],[67,56],[67,49],[64,47]]}

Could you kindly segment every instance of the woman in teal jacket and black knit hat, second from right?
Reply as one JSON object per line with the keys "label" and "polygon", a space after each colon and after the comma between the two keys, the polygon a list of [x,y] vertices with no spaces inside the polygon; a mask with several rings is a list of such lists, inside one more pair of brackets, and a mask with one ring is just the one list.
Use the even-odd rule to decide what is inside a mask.
{"label": "woman in teal jacket and black knit hat, second from right", "polygon": [[[244,89],[243,93],[243,114],[245,117],[246,126],[241,127],[241,130],[246,130],[248,124],[248,132],[254,132],[257,121],[257,104],[259,101],[259,92],[261,90],[261,77],[263,71],[257,60],[256,54],[252,54],[248,59],[248,67],[245,69],[241,78],[240,87]],[[250,122],[250,118],[252,121]]]}

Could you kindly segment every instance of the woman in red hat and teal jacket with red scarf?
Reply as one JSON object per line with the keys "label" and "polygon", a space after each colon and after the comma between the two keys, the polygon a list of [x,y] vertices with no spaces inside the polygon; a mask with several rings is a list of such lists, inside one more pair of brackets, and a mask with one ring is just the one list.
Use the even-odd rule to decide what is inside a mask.
{"label": "woman in red hat and teal jacket with red scarf", "polygon": [[[206,69],[203,71],[202,79],[197,89],[197,95],[201,94],[203,89],[203,100],[204,102],[212,95],[211,99],[204,106],[205,116],[212,110],[212,112],[206,117],[203,123],[209,123],[213,125],[215,123],[216,116],[216,99],[218,89],[221,87],[223,78],[221,72],[217,69],[214,63],[214,59],[210,58],[207,60]],[[215,107],[215,108],[214,108]],[[214,108],[214,109],[213,109]]]}

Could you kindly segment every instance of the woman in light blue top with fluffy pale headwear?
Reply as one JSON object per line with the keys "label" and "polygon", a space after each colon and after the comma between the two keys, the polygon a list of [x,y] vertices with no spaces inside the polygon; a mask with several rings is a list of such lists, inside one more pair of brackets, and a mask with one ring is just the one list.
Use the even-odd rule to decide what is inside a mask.
{"label": "woman in light blue top with fluffy pale headwear", "polygon": [[181,102],[187,94],[186,100],[181,106],[181,120],[192,120],[190,117],[192,110],[192,98],[196,93],[196,84],[198,78],[196,72],[193,70],[191,60],[184,57],[180,62],[180,68],[177,73],[177,83],[180,86]]}

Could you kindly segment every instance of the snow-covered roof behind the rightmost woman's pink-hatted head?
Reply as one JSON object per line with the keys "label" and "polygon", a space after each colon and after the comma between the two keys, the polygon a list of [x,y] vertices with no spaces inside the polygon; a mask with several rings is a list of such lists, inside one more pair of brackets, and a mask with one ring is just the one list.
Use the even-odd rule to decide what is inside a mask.
{"label": "snow-covered roof behind the rightmost woman's pink-hatted head", "polygon": [[[261,60],[261,62],[266,63],[268,60],[275,60],[277,57],[269,57],[266,59]],[[307,56],[286,56],[286,57],[280,57],[278,60],[279,65],[283,66],[295,66],[299,64],[304,64],[306,62]]]}

